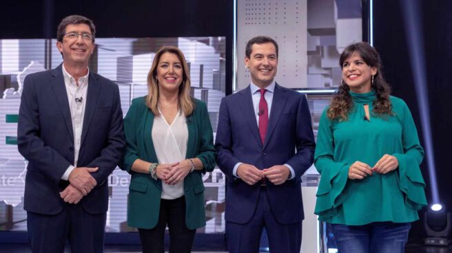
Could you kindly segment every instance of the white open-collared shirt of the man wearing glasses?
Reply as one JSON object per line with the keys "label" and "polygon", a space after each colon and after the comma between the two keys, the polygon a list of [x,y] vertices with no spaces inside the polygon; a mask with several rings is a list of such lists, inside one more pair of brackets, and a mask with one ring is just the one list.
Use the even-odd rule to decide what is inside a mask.
{"label": "white open-collared shirt of the man wearing glasses", "polygon": [[83,127],[83,117],[85,116],[86,95],[88,94],[88,76],[90,75],[90,69],[88,74],[79,78],[79,85],[76,84],[75,78],[73,78],[62,66],[64,84],[66,93],[68,94],[69,109],[72,120],[72,131],[74,132],[74,164],[70,165],[66,169],[61,179],[68,180],[70,173],[77,166],[79,160],[80,142],[81,142],[81,130]]}

